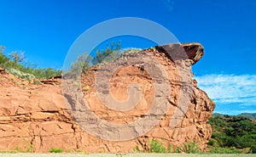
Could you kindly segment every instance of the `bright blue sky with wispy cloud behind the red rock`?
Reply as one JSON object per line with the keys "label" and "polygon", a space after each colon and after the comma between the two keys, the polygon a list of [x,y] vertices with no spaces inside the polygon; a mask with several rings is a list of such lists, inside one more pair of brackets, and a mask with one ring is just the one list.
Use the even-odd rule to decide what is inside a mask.
{"label": "bright blue sky with wispy cloud behind the red rock", "polygon": [[[38,67],[61,69],[68,49],[91,26],[140,17],[165,26],[179,42],[201,42],[193,67],[215,112],[256,112],[256,1],[254,0],[0,0],[0,45],[25,52]],[[147,48],[152,42],[122,42]],[[153,45],[152,45],[153,46]]]}

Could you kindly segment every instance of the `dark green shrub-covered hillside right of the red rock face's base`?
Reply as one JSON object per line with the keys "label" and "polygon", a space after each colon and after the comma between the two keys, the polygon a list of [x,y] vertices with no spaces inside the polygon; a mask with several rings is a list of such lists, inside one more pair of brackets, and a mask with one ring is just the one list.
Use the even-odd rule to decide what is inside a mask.
{"label": "dark green shrub-covered hillside right of the red rock face's base", "polygon": [[211,153],[255,153],[255,122],[240,115],[215,115],[209,123],[213,129],[208,143]]}

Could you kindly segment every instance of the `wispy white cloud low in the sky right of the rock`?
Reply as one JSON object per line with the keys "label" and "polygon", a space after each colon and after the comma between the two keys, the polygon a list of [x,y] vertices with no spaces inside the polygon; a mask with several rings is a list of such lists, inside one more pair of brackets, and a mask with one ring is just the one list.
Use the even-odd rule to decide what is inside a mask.
{"label": "wispy white cloud low in the sky right of the rock", "polygon": [[239,103],[256,106],[256,75],[196,76],[198,87],[206,91],[216,104]]}

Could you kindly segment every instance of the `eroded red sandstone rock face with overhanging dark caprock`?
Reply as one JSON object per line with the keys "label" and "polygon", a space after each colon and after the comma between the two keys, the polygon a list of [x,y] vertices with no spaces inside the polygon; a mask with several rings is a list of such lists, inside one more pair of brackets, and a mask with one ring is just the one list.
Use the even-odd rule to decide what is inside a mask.
{"label": "eroded red sandstone rock face with overhanging dark caprock", "polygon": [[[185,53],[187,57],[180,53]],[[64,151],[80,149],[91,153],[118,153],[133,152],[137,146],[147,151],[148,141],[152,139],[159,140],[166,147],[171,144],[172,148],[195,141],[204,150],[212,135],[207,121],[215,104],[207,97],[207,93],[196,87],[190,70],[190,66],[201,59],[203,53],[203,47],[199,43],[170,44],[139,53],[126,53],[115,63],[108,64],[113,67],[119,62],[123,66],[114,70],[110,77],[109,90],[102,93],[111,93],[116,101],[125,102],[129,100],[127,88],[131,82],[139,86],[136,89],[141,93],[140,101],[133,109],[124,111],[109,109],[98,97],[100,93],[96,92],[95,81],[96,71],[101,70],[100,67],[91,68],[82,75],[81,93],[67,87],[63,87],[62,91],[61,81],[45,81],[46,84],[41,85],[29,82],[22,84],[15,76],[3,73],[0,77],[0,150],[19,148],[23,151],[49,152],[51,148],[61,148]],[[147,60],[143,56],[145,54],[154,61]],[[156,74],[148,72],[154,64],[161,65],[167,80],[154,78],[160,75],[156,70],[152,70]],[[164,83],[170,89],[170,94],[166,96],[162,89],[167,88],[160,87],[162,94],[157,94],[155,90]],[[102,134],[84,130],[83,124],[94,123],[97,125],[92,131],[97,132],[102,124],[88,117],[84,105],[88,105],[99,120],[127,125],[149,116],[148,110],[152,108],[156,97],[164,98],[163,105],[166,108],[159,106],[160,109],[165,109],[158,112],[159,116],[154,115],[159,118],[159,122],[139,137],[124,140],[120,137],[122,134],[119,130],[104,126],[100,128],[108,129],[108,132],[104,130]],[[183,102],[188,105],[183,105]],[[77,111],[80,119],[76,116],[79,115]],[[81,123],[83,120],[89,122]],[[116,139],[111,137],[114,133],[119,140],[108,140]]]}

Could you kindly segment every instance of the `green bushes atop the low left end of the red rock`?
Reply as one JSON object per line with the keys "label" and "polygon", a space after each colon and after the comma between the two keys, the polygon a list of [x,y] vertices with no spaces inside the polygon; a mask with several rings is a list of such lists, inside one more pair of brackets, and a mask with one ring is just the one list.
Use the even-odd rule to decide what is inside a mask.
{"label": "green bushes atop the low left end of the red rock", "polygon": [[3,51],[4,47],[0,46],[0,67],[21,79],[32,81],[33,78],[49,79],[52,76],[61,76],[61,70],[52,68],[36,69],[30,63],[25,63],[26,58],[23,52],[15,51],[7,56],[3,54]]}

